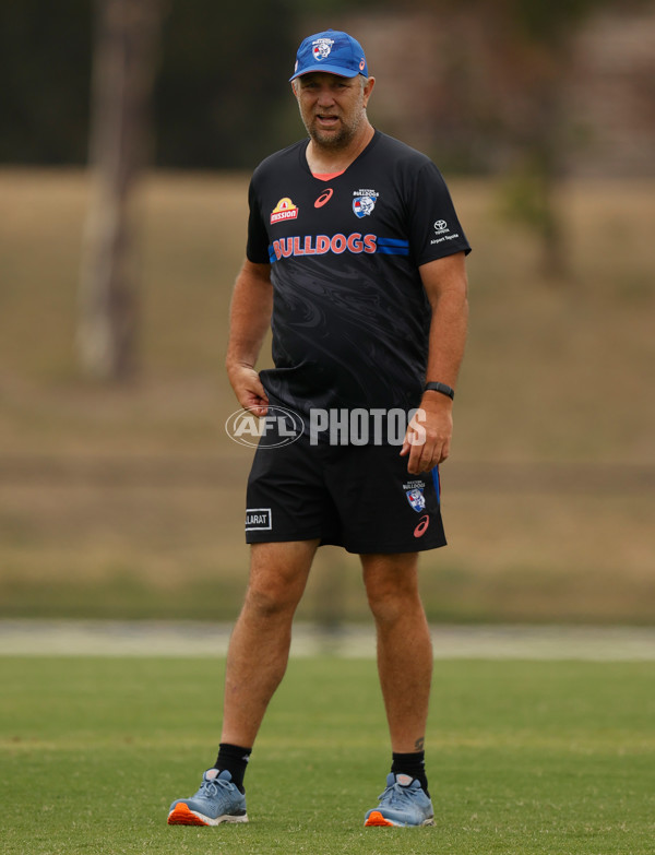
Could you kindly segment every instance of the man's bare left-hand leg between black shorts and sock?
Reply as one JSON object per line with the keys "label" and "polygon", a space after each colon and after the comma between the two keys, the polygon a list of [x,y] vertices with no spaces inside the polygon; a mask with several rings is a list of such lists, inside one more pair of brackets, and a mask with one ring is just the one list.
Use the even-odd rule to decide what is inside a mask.
{"label": "man's bare left-hand leg between black shorts and sock", "polygon": [[291,622],[318,541],[253,544],[243,608],[227,653],[222,743],[252,747],[286,670]]}

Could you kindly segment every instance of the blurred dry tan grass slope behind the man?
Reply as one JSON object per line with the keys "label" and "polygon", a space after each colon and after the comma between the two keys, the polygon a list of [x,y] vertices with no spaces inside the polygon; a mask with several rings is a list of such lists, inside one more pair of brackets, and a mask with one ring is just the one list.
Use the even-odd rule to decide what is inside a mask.
{"label": "blurred dry tan grass slope behind the man", "polygon": [[[451,183],[475,248],[472,329],[443,471],[451,546],[424,559],[430,614],[652,620],[652,491],[617,494],[610,477],[593,489],[476,489],[457,464],[655,466],[655,187],[564,188],[571,277],[548,282],[532,237],[497,215],[497,188]],[[74,352],[85,176],[0,173],[4,614],[234,614],[249,454],[223,430],[236,406],[222,363],[246,186],[243,176],[145,182],[142,373],[114,388],[82,377]],[[38,472],[43,454],[75,465],[59,477],[2,468],[21,458]],[[129,470],[143,459],[188,474],[75,475],[80,461]],[[198,478],[205,459],[213,476]],[[342,607],[366,613],[357,561],[325,550],[303,614],[329,619]]]}

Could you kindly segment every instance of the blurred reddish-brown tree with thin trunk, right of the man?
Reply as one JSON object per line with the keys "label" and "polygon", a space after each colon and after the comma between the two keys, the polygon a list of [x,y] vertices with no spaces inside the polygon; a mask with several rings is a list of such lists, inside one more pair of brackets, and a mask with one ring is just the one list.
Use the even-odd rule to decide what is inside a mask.
{"label": "blurred reddish-brown tree with thin trunk, right of the man", "polygon": [[[440,162],[504,176],[501,210],[533,231],[545,275],[568,273],[557,190],[573,144],[568,84],[592,14],[645,0],[407,0],[442,50],[432,98]],[[420,85],[420,79],[419,79]]]}

